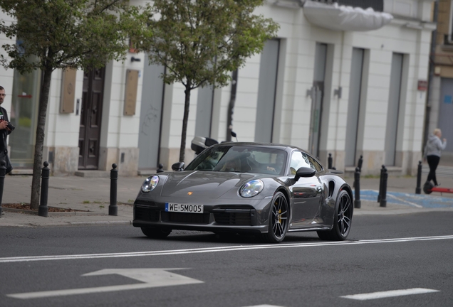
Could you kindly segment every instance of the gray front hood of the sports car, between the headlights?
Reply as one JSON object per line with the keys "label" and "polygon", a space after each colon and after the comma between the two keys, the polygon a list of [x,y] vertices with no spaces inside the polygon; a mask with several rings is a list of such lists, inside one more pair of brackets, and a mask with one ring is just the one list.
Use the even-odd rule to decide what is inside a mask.
{"label": "gray front hood of the sports car, between the headlights", "polygon": [[[229,173],[219,171],[182,171],[170,173],[162,187],[162,196],[219,198],[231,189],[238,189],[244,183],[259,178],[259,174]],[[190,193],[192,192],[192,193]]]}

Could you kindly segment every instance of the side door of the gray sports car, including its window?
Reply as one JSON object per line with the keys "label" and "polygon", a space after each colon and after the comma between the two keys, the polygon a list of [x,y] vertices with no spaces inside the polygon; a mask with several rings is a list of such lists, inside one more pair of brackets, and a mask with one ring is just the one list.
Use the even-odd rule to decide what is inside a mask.
{"label": "side door of the gray sports car, including its window", "polygon": [[[302,151],[293,151],[290,161],[291,176],[296,175],[296,171],[301,167],[313,168],[318,173],[310,158],[308,154]],[[323,195],[323,185],[318,176],[299,178],[290,187],[290,191],[293,194],[291,228],[311,225],[319,211],[321,196]]]}

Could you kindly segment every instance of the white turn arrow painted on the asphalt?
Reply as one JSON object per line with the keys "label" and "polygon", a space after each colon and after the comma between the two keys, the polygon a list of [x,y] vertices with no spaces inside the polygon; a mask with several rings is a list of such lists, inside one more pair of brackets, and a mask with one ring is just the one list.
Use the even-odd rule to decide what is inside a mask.
{"label": "white turn arrow painted on the asphalt", "polygon": [[135,290],[135,289],[147,289],[155,288],[160,286],[179,286],[186,284],[202,284],[204,281],[192,279],[179,274],[171,273],[179,269],[102,269],[100,271],[94,271],[82,276],[96,276],[96,275],[110,275],[119,274],[122,276],[142,281],[143,284],[127,284],[119,286],[101,286],[93,288],[80,288],[80,289],[66,289],[56,291],[39,291],[39,292],[27,292],[27,293],[14,293],[6,294],[6,296],[12,298],[46,298],[53,296],[69,296],[75,294],[88,294],[88,293],[102,293],[112,291],[124,291],[124,290]]}

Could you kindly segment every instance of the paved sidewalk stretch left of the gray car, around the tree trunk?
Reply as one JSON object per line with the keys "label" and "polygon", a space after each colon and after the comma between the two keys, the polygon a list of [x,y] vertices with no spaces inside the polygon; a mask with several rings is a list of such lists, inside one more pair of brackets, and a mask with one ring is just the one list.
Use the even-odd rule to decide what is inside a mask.
{"label": "paved sidewalk stretch left of the gray car, around the tree trunk", "polygon": [[[1,203],[30,203],[31,176],[6,176]],[[5,208],[0,227],[39,227],[56,225],[132,225],[132,203],[145,177],[118,178],[118,216],[108,215],[110,178],[78,176],[52,177],[48,183],[48,207],[71,208],[75,212],[21,213]],[[34,214],[33,214],[34,213]]]}

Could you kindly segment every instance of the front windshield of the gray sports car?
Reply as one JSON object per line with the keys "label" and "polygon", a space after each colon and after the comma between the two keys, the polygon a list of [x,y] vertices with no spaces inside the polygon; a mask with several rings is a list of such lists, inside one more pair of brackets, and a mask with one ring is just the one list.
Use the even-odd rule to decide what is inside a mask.
{"label": "front windshield of the gray sports car", "polygon": [[213,146],[194,158],[185,171],[283,175],[286,169],[286,157],[286,151],[269,147]]}

